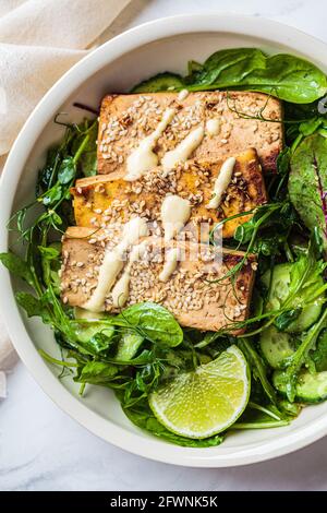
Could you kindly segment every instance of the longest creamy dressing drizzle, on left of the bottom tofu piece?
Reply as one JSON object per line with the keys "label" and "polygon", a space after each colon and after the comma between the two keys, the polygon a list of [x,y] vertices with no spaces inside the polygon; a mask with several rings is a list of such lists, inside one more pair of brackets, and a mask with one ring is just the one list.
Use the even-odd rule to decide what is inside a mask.
{"label": "longest creamy dressing drizzle, on left of the bottom tofu piece", "polygon": [[83,305],[83,308],[92,312],[100,312],[105,309],[105,299],[124,266],[124,252],[129,246],[134,244],[140,237],[145,237],[146,235],[148,235],[146,219],[134,217],[125,224],[122,240],[112,250],[105,252],[105,258],[99,270],[98,284],[92,297]]}

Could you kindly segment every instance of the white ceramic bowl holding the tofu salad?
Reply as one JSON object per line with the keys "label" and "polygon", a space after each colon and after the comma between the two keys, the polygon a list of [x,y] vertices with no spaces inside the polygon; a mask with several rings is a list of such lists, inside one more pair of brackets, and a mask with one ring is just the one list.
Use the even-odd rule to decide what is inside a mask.
{"label": "white ceramic bowl holding the tofu salad", "polygon": [[[108,92],[124,92],[159,71],[185,72],[189,59],[203,61],[215,50],[259,47],[270,52],[303,56],[327,71],[327,46],[294,28],[259,17],[237,15],[183,15],[133,28],[83,59],[44,97],[21,131],[7,162],[1,182],[0,244],[8,249],[7,220],[33,196],[36,171],[50,143],[62,129],[52,120],[68,112],[83,116],[73,102],[98,106]],[[10,244],[14,244],[11,240]],[[290,426],[275,430],[230,433],[217,448],[171,445],[138,430],[124,417],[110,391],[88,387],[80,398],[71,379],[59,381],[58,369],[37,353],[58,349],[51,332],[38,320],[26,320],[14,299],[16,283],[0,269],[0,308],[15,348],[44,391],[93,433],[114,445],[161,462],[198,467],[227,467],[268,460],[307,445],[327,433],[327,403],[305,408]],[[41,415],[41,411],[39,413]]]}

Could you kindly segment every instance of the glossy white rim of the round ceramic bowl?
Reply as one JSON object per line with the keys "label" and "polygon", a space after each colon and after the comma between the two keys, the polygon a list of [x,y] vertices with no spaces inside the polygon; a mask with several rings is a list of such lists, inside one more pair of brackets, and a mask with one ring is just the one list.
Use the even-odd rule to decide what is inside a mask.
{"label": "glossy white rim of the round ceramic bowl", "polygon": [[[155,40],[190,33],[234,33],[256,36],[276,45],[286,45],[295,52],[307,55],[312,51],[314,61],[326,62],[327,45],[298,28],[282,23],[255,16],[230,13],[179,14],[154,20],[131,28],[95,49],[74,64],[44,96],[28,117],[8,156],[0,182],[0,249],[8,250],[7,222],[12,202],[24,169],[25,162],[45,124],[53,118],[66,98],[87,79],[101,68]],[[109,56],[109,57],[108,57]],[[13,345],[28,371],[44,392],[68,415],[99,438],[120,449],[154,461],[191,467],[230,467],[252,464],[281,456],[304,448],[327,434],[327,416],[313,419],[307,425],[294,429],[271,441],[252,443],[237,448],[230,454],[219,454],[210,449],[191,449],[165,444],[155,438],[131,432],[114,425],[90,410],[74,397],[56,379],[41,359],[29,337],[19,307],[14,299],[9,272],[0,269],[0,310]],[[282,428],[281,428],[282,429]],[[161,444],[161,448],[160,448]],[[164,450],[162,450],[164,448]],[[213,448],[215,449],[215,448]]]}

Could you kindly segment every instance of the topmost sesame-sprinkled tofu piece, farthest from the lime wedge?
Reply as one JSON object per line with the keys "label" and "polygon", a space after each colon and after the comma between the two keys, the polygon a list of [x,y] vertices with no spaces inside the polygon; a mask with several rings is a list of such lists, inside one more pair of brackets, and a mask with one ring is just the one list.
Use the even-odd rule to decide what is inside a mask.
{"label": "topmost sesame-sprinkled tofu piece, farthest from the lime wedge", "polygon": [[264,171],[276,171],[283,142],[278,122],[282,119],[281,103],[261,93],[215,91],[190,93],[184,99],[169,92],[106,96],[100,110],[98,172],[125,174],[128,156],[154,132],[167,108],[174,108],[175,116],[156,143],[159,163],[194,128],[208,127],[206,122],[214,119],[215,129],[206,130],[193,158],[215,164],[255,147]]}

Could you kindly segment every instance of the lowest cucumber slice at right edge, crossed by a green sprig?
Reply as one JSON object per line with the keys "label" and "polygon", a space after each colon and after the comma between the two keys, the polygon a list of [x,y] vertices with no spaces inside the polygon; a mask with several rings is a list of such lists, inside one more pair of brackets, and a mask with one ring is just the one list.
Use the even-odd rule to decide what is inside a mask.
{"label": "lowest cucumber slice at right edge, crossed by a green sprig", "polygon": [[[286,395],[284,374],[275,371],[272,377],[274,386],[282,395]],[[295,401],[302,403],[322,403],[327,399],[327,371],[312,374],[308,370],[302,370],[296,384]]]}

